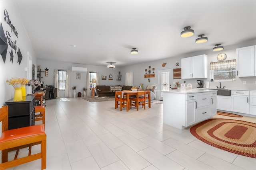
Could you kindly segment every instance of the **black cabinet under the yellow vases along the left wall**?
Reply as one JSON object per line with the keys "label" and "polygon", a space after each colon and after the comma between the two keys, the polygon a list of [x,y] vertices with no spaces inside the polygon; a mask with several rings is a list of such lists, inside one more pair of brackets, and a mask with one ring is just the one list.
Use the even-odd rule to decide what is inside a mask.
{"label": "black cabinet under the yellow vases along the left wall", "polygon": [[22,101],[6,102],[8,106],[8,129],[35,125],[35,96],[23,97]]}

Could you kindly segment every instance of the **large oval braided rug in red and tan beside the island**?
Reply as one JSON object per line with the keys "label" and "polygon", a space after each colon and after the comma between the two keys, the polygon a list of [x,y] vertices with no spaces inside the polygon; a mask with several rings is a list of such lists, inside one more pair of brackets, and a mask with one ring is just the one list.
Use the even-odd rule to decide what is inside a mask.
{"label": "large oval braided rug in red and tan beside the island", "polygon": [[190,132],[197,139],[235,154],[256,158],[256,124],[232,119],[208,119]]}

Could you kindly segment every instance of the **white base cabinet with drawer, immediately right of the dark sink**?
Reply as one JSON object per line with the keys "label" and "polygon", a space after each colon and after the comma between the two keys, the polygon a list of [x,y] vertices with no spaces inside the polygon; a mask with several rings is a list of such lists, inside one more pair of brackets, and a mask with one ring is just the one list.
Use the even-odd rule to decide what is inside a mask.
{"label": "white base cabinet with drawer, immediately right of the dark sink", "polygon": [[249,114],[249,91],[231,92],[231,111]]}

